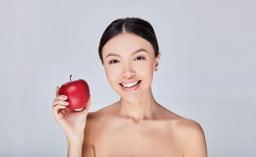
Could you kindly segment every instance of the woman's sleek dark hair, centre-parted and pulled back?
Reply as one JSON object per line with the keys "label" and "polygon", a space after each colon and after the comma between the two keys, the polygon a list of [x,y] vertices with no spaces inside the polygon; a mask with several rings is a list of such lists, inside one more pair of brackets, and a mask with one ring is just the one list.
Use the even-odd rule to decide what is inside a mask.
{"label": "woman's sleek dark hair, centre-parted and pulled back", "polygon": [[111,22],[106,28],[99,43],[99,58],[102,60],[102,48],[104,45],[112,39],[114,36],[119,34],[131,33],[142,37],[151,43],[154,48],[154,56],[157,57],[159,53],[159,47],[157,43],[157,37],[155,35],[152,25],[138,17],[126,17],[119,18]]}

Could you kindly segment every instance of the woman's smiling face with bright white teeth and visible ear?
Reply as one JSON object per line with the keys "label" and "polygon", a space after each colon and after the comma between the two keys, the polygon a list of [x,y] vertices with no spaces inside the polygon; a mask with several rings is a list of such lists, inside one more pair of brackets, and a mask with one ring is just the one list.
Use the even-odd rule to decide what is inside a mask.
{"label": "woman's smiling face with bright white teeth and visible ear", "polygon": [[156,58],[150,42],[134,34],[120,34],[102,49],[104,69],[111,87],[126,101],[139,101],[151,92]]}

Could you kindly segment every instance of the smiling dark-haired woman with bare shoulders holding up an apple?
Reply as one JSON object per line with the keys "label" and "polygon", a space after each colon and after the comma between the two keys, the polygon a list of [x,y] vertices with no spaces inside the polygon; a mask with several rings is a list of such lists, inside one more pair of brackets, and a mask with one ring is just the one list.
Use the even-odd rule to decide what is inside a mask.
{"label": "smiling dark-haired woman with bare shoulders holding up an apple", "polygon": [[120,100],[96,112],[52,102],[67,134],[68,157],[207,157],[204,132],[192,120],[158,104],[151,92],[161,53],[151,24],[140,18],[113,21],[102,35],[99,57]]}

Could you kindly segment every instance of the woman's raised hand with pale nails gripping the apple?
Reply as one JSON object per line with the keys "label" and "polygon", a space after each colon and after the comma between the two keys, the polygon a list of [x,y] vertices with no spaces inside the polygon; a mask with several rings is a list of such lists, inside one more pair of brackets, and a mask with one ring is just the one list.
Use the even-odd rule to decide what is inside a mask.
{"label": "woman's raised hand with pale nails gripping the apple", "polygon": [[84,136],[84,128],[86,125],[86,118],[90,107],[90,96],[87,105],[81,111],[75,111],[67,108],[66,95],[59,95],[60,88],[56,88],[56,97],[52,102],[52,109],[55,120],[66,133],[67,137]]}

